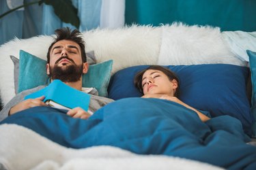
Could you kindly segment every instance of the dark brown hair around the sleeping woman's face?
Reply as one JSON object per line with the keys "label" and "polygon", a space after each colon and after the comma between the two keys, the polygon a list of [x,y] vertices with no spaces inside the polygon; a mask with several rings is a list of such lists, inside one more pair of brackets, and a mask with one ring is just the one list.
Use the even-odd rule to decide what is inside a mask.
{"label": "dark brown hair around the sleeping woman's face", "polygon": [[180,95],[180,81],[177,78],[177,75],[175,75],[175,73],[173,73],[173,71],[167,69],[166,67],[162,67],[160,65],[151,65],[150,67],[147,67],[146,69],[143,69],[142,71],[139,71],[135,75],[133,82],[134,82],[134,85],[139,89],[139,91],[141,93],[143,93],[142,77],[143,77],[143,74],[145,73],[145,71],[147,71],[148,69],[155,69],[155,70],[162,71],[162,73],[165,73],[165,75],[167,75],[167,77],[169,78],[170,81],[175,79],[177,81],[177,88],[175,90],[174,96],[179,97],[179,95]]}

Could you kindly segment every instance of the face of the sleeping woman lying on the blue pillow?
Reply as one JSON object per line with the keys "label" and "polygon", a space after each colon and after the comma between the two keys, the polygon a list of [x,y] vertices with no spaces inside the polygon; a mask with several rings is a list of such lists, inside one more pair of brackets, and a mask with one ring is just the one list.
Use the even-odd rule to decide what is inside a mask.
{"label": "face of the sleeping woman lying on the blue pillow", "polygon": [[167,75],[160,70],[148,69],[142,76],[143,94],[158,94],[174,96],[177,88],[175,79],[169,80]]}

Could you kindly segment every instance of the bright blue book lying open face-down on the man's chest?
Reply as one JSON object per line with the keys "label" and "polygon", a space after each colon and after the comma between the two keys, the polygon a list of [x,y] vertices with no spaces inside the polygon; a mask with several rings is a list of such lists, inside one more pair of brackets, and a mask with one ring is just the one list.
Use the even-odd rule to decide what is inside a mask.
{"label": "bright blue book lying open face-down on the man's chest", "polygon": [[25,99],[35,99],[44,96],[44,103],[57,107],[59,109],[73,109],[74,107],[81,107],[88,111],[90,95],[85,92],[76,90],[60,80],[53,80],[51,84],[27,95]]}

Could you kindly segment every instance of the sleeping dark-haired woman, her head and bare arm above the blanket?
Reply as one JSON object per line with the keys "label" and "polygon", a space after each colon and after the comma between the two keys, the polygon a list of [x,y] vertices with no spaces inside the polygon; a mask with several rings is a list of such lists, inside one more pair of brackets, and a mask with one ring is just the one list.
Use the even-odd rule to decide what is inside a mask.
{"label": "sleeping dark-haired woman, her head and bare arm above the blanket", "polygon": [[203,122],[210,119],[208,116],[205,116],[197,109],[190,107],[177,98],[179,95],[179,79],[175,73],[165,67],[159,65],[147,67],[147,69],[135,75],[134,84],[143,93],[143,98],[158,98],[173,101],[195,111]]}

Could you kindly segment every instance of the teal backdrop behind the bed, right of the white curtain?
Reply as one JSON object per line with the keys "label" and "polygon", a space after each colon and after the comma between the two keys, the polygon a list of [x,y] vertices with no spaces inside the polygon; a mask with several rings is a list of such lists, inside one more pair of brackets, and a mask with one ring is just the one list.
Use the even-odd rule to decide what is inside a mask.
{"label": "teal backdrop behind the bed, right of the white curtain", "polygon": [[256,31],[256,0],[126,0],[126,24],[211,25]]}

